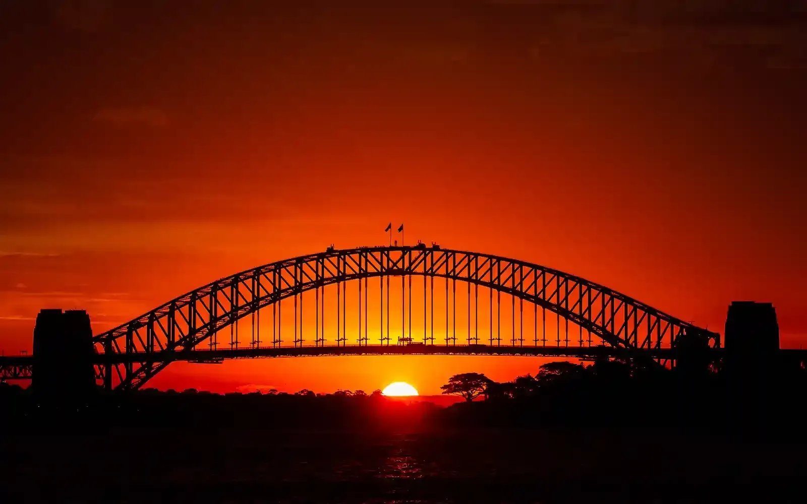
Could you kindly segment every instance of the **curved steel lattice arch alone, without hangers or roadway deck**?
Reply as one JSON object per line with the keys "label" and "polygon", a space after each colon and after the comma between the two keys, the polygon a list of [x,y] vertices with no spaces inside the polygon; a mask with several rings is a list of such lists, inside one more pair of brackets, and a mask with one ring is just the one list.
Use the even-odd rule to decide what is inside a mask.
{"label": "curved steel lattice arch alone, without hangers or roadway deck", "polygon": [[[215,350],[216,333],[254,316],[261,308],[325,285],[402,275],[466,281],[511,294],[578,324],[627,355],[635,350],[675,348],[682,335],[720,347],[717,333],[603,285],[539,264],[424,244],[328,248],[221,278],[95,335],[97,361],[104,363],[96,364],[96,377],[107,389],[113,388],[115,376],[115,389],[138,389],[198,344],[210,339],[208,344]],[[256,347],[260,343],[251,342]],[[176,358],[166,359],[166,355]]]}

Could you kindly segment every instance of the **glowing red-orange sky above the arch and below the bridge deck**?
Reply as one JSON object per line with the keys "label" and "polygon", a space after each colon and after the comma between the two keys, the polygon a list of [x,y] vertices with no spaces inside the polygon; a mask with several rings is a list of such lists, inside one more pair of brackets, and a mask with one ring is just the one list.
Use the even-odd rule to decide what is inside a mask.
{"label": "glowing red-orange sky above the arch and below the bridge deck", "polygon": [[[408,240],[805,343],[805,2],[3,2],[0,348],[257,264]],[[726,4],[728,5],[728,4]],[[10,76],[10,77],[9,77]],[[172,364],[161,388],[436,393],[537,360]]]}

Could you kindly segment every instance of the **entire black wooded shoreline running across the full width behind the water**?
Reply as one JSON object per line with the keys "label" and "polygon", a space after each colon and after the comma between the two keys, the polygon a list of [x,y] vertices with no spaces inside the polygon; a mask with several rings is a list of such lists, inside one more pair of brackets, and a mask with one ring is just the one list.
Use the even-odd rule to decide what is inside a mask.
{"label": "entire black wooded shoreline running across the full width behind the water", "polygon": [[[537,373],[496,382],[480,373],[450,377],[443,394],[466,402],[441,408],[399,402],[380,390],[315,394],[211,394],[144,389],[98,390],[83,398],[44,400],[30,389],[0,384],[0,423],[75,428],[92,426],[218,429],[443,427],[730,427],[796,425],[804,414],[807,371],[760,369],[732,377],[719,369],[688,373],[619,360],[551,362]],[[484,399],[484,400],[482,400]]]}

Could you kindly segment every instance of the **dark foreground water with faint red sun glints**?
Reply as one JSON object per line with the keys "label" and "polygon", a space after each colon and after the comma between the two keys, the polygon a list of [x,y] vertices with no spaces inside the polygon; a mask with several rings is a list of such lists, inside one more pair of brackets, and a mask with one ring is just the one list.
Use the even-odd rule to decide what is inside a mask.
{"label": "dark foreground water with faint red sun glints", "polygon": [[798,501],[803,448],[642,429],[6,432],[0,501]]}

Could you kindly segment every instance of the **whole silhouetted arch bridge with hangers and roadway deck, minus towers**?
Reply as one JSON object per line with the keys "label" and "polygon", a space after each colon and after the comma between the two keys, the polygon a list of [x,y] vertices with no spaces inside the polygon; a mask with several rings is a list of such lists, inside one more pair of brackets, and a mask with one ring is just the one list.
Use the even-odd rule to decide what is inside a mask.
{"label": "whole silhouetted arch bridge with hangers and roadway deck, minus towers", "polygon": [[[417,279],[415,285],[413,278]],[[393,289],[395,306],[390,299]],[[422,306],[420,300],[413,306],[413,291],[422,292]],[[333,306],[326,304],[326,297],[331,305],[336,301],[335,309],[328,310]],[[356,301],[350,313],[348,298]],[[289,305],[293,305],[294,319],[291,334],[282,325],[282,309],[288,312]],[[378,310],[374,320],[369,317],[370,305]],[[313,324],[310,320],[305,323],[303,306],[313,310]],[[503,306],[505,317],[510,315],[509,324],[505,320],[509,335],[501,327]],[[413,325],[413,309],[422,318],[422,326]],[[485,311],[487,338],[485,327],[481,337],[479,333],[479,315],[485,318]],[[306,313],[311,319],[311,312]],[[286,313],[286,321],[288,316]],[[269,335],[267,318],[271,319]],[[336,327],[326,325],[326,319],[329,323],[336,320]],[[247,342],[241,340],[245,331]],[[110,331],[91,335],[91,345],[93,352],[86,362],[91,362],[98,385],[132,390],[178,360],[216,363],[281,356],[521,355],[617,357],[672,367],[693,352],[716,358],[721,336],[557,269],[417,244],[329,247],[324,252],[264,264],[203,285]],[[37,364],[43,363],[43,357],[37,360],[35,336],[33,356],[0,358],[0,379],[36,379]]]}

